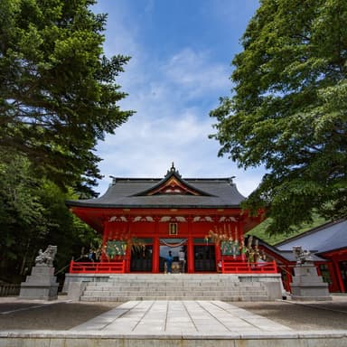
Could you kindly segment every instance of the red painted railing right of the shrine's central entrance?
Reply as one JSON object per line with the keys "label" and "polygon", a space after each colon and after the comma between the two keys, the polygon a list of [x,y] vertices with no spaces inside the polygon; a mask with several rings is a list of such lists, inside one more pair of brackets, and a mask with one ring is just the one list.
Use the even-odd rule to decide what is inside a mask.
{"label": "red painted railing right of the shrine's central entrance", "polygon": [[248,263],[222,260],[221,272],[223,274],[277,274],[277,265],[275,261]]}

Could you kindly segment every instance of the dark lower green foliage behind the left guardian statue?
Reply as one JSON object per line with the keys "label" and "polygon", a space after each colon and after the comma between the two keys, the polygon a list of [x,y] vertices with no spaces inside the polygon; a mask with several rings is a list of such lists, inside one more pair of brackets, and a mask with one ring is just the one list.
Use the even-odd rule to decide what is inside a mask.
{"label": "dark lower green foliage behind the left guardian statue", "polygon": [[76,196],[35,177],[24,156],[14,151],[0,154],[0,279],[23,280],[38,250],[50,244],[58,247],[57,270],[66,267],[72,256],[80,256],[82,248],[98,245],[95,230],[65,206],[65,200]]}

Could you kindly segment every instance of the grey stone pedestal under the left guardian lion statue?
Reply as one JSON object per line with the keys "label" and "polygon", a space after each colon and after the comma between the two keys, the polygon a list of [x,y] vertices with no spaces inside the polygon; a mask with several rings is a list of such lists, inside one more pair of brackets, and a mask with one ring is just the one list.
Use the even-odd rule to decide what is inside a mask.
{"label": "grey stone pedestal under the left guardian lion statue", "polygon": [[54,267],[45,265],[32,269],[32,275],[27,276],[21,284],[20,298],[56,300],[58,298],[58,283],[54,276]]}

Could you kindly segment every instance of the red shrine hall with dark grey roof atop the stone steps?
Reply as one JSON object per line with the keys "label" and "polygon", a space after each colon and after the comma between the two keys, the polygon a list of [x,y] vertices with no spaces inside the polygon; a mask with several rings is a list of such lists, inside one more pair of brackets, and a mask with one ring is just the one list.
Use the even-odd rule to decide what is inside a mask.
{"label": "red shrine hall with dark grey roof atop the stone steps", "polygon": [[103,239],[99,261],[72,261],[70,273],[164,273],[169,251],[173,272],[249,272],[244,233],[263,212],[242,211],[244,199],[232,178],[183,179],[174,164],[162,179],[113,178],[103,196],[67,202]]}

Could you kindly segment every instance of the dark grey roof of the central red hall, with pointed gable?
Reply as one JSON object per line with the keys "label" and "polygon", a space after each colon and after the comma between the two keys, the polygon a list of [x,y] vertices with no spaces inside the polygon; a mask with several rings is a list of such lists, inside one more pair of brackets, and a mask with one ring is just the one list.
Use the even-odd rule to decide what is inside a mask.
{"label": "dark grey roof of the central red hall, with pointed gable", "polygon": [[113,178],[97,199],[68,201],[94,208],[239,208],[245,199],[231,178],[183,179],[174,165],[160,178]]}

